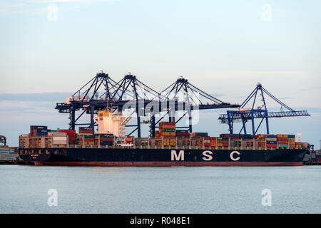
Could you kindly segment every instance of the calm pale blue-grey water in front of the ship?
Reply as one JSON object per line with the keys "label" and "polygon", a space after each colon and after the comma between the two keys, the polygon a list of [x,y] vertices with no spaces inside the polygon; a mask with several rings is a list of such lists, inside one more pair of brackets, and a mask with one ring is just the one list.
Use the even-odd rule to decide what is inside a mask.
{"label": "calm pale blue-grey water in front of the ship", "polygon": [[1,213],[321,213],[320,166],[0,165],[0,174]]}

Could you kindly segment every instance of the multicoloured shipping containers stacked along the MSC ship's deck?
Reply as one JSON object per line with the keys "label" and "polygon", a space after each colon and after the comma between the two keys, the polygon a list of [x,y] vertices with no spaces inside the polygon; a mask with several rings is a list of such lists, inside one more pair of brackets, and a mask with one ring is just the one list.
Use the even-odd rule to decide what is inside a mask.
{"label": "multicoloured shipping containers stacked along the MSC ship's deck", "polygon": [[[184,147],[206,149],[235,150],[275,150],[307,148],[307,142],[295,142],[295,135],[245,135],[220,134],[220,137],[210,137],[208,133],[188,133],[188,130],[175,130],[175,122],[159,123],[156,138],[134,138],[126,136],[121,144],[143,148],[154,147]],[[31,126],[29,134],[19,136],[21,148],[51,148],[51,147],[114,147],[117,138],[113,134],[94,134],[92,128],[76,130],[49,130],[46,126]]]}

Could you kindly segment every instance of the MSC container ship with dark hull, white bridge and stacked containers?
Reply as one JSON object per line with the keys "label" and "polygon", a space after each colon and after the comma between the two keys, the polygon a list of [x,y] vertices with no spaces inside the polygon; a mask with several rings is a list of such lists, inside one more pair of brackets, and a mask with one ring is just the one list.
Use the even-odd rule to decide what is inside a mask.
{"label": "MSC container ship with dark hull, white bridge and stacked containers", "polygon": [[30,126],[19,135],[19,156],[34,165],[92,166],[300,166],[310,150],[287,134],[189,133],[160,122],[155,138],[126,135],[128,117],[98,110],[93,128],[49,130]]}

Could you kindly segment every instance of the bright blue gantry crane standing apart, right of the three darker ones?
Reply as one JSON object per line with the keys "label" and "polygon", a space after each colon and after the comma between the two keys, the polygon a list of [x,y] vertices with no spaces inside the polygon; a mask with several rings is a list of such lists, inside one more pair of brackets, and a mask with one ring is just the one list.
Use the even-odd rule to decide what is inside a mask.
{"label": "bright blue gantry crane standing apart, right of the three darker ones", "polygon": [[[260,94],[258,94],[260,92]],[[280,111],[278,112],[267,112],[267,105],[265,102],[265,96],[266,94],[268,97],[272,98],[272,100],[275,100],[277,103],[281,105]],[[258,96],[262,97],[263,105],[258,106],[258,108],[255,108],[255,101],[258,100]],[[253,100],[253,103],[251,105],[251,108],[245,108],[245,105],[250,104],[250,100]],[[270,92],[268,92],[261,83],[258,83],[258,85],[255,87],[255,89],[248,95],[248,98],[244,100],[244,102],[240,105],[238,110],[228,110],[227,114],[220,114],[219,120],[220,123],[227,123],[229,127],[230,134],[233,134],[233,123],[236,122],[242,122],[243,127],[241,128],[240,133],[242,131],[246,134],[246,126],[245,124],[248,122],[248,120],[251,120],[252,123],[252,133],[255,135],[258,132],[258,129],[260,128],[260,125],[263,123],[263,120],[265,120],[266,124],[266,133],[269,134],[269,123],[268,118],[282,118],[282,117],[294,117],[294,116],[308,116],[310,115],[307,113],[307,110],[293,110],[289,106],[285,105],[285,103],[282,103],[281,100],[275,98],[274,95],[272,95]],[[260,118],[260,123],[258,125],[258,128],[255,128],[254,119]]]}

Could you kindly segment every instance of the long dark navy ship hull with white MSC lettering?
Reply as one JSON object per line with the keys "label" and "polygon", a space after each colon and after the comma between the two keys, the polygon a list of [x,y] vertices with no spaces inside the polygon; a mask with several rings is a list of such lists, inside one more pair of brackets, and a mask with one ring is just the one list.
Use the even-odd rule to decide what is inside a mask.
{"label": "long dark navy ship hull with white MSC lettering", "polygon": [[[30,150],[26,154],[26,150]],[[38,150],[37,150],[38,151]],[[300,166],[307,150],[182,150],[48,148],[35,154],[19,151],[35,165],[68,166]]]}

